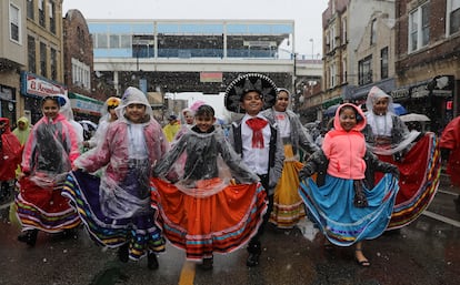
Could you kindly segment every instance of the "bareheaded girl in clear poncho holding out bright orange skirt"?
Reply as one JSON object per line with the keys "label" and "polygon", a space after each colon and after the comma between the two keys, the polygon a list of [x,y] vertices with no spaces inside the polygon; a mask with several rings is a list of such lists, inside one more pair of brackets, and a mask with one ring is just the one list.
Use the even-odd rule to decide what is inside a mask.
{"label": "bareheaded girl in clear poncho holding out bright orange skirt", "polygon": [[168,240],[210,269],[213,253],[232,252],[256,233],[267,205],[259,177],[214,126],[214,110],[199,106],[194,121],[154,167],[152,206]]}

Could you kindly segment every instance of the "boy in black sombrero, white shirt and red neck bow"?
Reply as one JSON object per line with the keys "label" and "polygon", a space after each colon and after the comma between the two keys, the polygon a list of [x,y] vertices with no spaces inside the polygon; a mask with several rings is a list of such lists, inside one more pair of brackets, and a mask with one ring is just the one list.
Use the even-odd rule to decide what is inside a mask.
{"label": "boy in black sombrero, white shirt and red neck bow", "polygon": [[277,98],[277,85],[268,77],[249,73],[233,80],[226,90],[226,108],[230,112],[244,113],[232,123],[228,140],[243,162],[257,173],[268,196],[268,210],[258,233],[248,245],[247,266],[259,264],[262,253],[260,237],[263,234],[271,208],[274,187],[281,176],[284,150],[276,122],[270,122],[260,111],[271,108]]}

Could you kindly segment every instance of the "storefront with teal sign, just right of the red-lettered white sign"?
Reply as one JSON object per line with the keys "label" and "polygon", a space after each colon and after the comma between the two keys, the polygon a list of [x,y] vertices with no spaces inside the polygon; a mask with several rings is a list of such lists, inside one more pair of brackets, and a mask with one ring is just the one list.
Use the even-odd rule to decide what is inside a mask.
{"label": "storefront with teal sign, just right of the red-lettered white sign", "polygon": [[89,120],[94,123],[99,122],[103,102],[72,92],[69,92],[69,99],[76,121]]}

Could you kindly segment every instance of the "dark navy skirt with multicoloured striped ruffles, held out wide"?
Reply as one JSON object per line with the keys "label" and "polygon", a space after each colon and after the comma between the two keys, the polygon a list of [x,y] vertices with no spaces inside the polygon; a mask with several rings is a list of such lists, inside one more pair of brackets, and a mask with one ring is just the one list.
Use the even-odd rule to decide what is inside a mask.
{"label": "dark navy skirt with multicoloured striped ruffles, held out wide", "polygon": [[110,248],[129,243],[129,257],[133,261],[148,252],[163,252],[166,242],[161,227],[156,223],[157,213],[147,210],[130,218],[109,217],[101,207],[100,179],[82,171],[71,172],[62,195],[71,200],[90,237],[99,245]]}

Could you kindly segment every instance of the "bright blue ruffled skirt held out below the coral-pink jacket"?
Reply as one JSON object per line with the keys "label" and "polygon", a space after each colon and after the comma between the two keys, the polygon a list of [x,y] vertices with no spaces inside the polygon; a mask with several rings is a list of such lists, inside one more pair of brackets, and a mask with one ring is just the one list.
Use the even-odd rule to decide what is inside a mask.
{"label": "bright blue ruffled skirt held out below the coral-pink jacket", "polygon": [[372,190],[363,189],[368,206],[356,207],[353,180],[326,175],[320,187],[312,179],[301,181],[299,194],[326,237],[336,245],[349,246],[384,232],[398,190],[398,180],[386,174]]}

